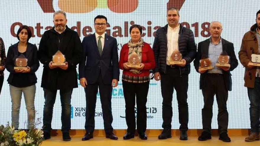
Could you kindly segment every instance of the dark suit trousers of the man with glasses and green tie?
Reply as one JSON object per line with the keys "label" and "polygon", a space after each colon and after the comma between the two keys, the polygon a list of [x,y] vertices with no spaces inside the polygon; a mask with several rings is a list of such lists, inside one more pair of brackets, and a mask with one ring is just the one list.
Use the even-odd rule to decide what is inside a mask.
{"label": "dark suit trousers of the man with glasses and green tie", "polygon": [[[112,83],[112,82],[111,82]],[[112,86],[103,83],[101,73],[99,73],[98,81],[95,84],[88,84],[85,88],[86,93],[86,132],[93,132],[95,129],[95,108],[97,101],[97,93],[99,88],[99,95],[102,107],[102,114],[104,120],[104,129],[106,133],[113,131],[112,122],[112,109],[111,109],[111,97]]]}

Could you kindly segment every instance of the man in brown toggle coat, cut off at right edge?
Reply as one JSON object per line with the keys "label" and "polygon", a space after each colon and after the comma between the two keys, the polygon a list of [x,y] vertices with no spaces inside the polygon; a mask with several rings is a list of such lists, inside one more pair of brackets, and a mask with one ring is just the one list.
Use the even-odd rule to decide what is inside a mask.
{"label": "man in brown toggle coat, cut off at right edge", "polygon": [[256,13],[256,24],[254,24],[250,31],[246,32],[241,49],[238,53],[241,64],[246,68],[245,70],[245,87],[247,87],[248,97],[250,100],[250,123],[251,134],[245,138],[245,141],[259,140],[260,128],[260,67],[248,65],[251,62],[252,54],[260,53],[260,10]]}

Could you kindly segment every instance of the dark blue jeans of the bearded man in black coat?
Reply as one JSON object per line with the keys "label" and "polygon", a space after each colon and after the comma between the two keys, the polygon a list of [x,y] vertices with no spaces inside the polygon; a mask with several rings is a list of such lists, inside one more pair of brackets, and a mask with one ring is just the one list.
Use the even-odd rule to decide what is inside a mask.
{"label": "dark blue jeans of the bearded man in black coat", "polygon": [[[53,105],[56,100],[57,90],[49,90],[43,88],[44,91],[44,108],[43,108],[43,132],[50,133],[51,132],[51,121],[52,121],[52,113],[53,113]],[[71,94],[73,89],[71,90],[60,90],[61,96],[61,131],[69,132],[71,128]]]}

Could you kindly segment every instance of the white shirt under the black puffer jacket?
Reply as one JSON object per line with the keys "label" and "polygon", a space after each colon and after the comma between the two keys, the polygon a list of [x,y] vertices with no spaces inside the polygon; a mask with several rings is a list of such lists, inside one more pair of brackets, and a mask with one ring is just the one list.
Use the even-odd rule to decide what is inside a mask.
{"label": "white shirt under the black puffer jacket", "polygon": [[170,56],[172,55],[173,51],[179,50],[179,31],[180,31],[180,24],[172,28],[168,25],[167,29],[167,65],[170,65]]}

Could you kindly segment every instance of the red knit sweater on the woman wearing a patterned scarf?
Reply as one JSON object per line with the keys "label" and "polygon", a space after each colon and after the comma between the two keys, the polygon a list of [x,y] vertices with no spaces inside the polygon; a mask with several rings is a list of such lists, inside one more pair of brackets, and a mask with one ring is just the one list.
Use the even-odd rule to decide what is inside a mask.
{"label": "red knit sweater on the woman wearing a patterned scarf", "polygon": [[119,59],[119,68],[123,70],[123,74],[128,76],[148,76],[150,74],[150,70],[155,68],[155,58],[150,45],[144,42],[144,46],[142,47],[142,63],[144,63],[144,68],[140,74],[134,74],[123,67],[123,63],[128,61],[128,51],[129,47],[126,43],[121,48]]}

